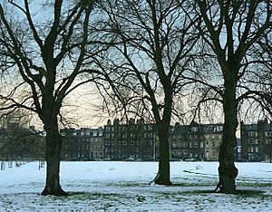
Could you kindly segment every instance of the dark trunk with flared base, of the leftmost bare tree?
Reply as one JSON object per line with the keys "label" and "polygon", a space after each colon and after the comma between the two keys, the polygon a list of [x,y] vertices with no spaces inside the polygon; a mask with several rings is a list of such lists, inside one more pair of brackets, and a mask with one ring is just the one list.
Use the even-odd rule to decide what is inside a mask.
{"label": "dark trunk with flared base, of the leftmost bare tree", "polygon": [[65,196],[60,184],[60,161],[62,140],[58,131],[57,119],[44,124],[46,131],[46,185],[42,195]]}

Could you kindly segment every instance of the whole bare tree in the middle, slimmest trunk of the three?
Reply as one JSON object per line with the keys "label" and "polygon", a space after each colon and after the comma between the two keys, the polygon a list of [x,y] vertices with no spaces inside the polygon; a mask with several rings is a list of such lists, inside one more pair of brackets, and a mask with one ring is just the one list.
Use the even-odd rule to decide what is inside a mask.
{"label": "whole bare tree in the middle, slimmest trunk of the three", "polygon": [[[159,171],[156,184],[170,185],[169,130],[173,97],[187,81],[184,72],[194,60],[198,41],[196,16],[187,16],[189,1],[105,1],[108,32],[117,44],[102,64],[121,107],[149,113],[158,127]],[[187,11],[189,12],[189,11]],[[193,53],[194,52],[194,53]],[[106,68],[105,68],[106,67]],[[120,89],[121,88],[121,89]],[[133,105],[133,106],[131,106]]]}

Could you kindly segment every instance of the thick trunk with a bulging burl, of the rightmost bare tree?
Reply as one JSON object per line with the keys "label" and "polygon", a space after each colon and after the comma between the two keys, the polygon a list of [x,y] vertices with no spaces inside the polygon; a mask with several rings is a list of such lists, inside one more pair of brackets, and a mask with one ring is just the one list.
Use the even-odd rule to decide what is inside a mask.
{"label": "thick trunk with a bulging burl, of the rightmost bare tree", "polygon": [[[236,177],[238,169],[235,167],[235,147],[236,147],[236,130],[238,127],[236,101],[236,82],[227,80],[225,82],[225,93],[223,99],[224,110],[224,129],[222,144],[219,152],[219,192],[235,193]],[[216,189],[217,190],[217,189]]]}

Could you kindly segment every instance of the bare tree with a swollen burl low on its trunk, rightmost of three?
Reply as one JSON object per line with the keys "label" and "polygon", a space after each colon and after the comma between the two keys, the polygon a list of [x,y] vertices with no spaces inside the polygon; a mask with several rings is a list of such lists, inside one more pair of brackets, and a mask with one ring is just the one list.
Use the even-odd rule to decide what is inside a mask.
{"label": "bare tree with a swollen burl low on its trunk, rightmost of three", "polygon": [[[248,92],[238,90],[250,69],[251,54],[257,41],[271,27],[270,1],[197,1],[208,34],[202,38],[215,53],[223,77],[219,90],[224,111],[224,132],[219,153],[219,185],[224,193],[236,191],[238,169],[234,164],[234,148],[238,127],[238,103],[248,97]],[[257,63],[257,62],[256,62]],[[255,63],[255,64],[256,64]]]}

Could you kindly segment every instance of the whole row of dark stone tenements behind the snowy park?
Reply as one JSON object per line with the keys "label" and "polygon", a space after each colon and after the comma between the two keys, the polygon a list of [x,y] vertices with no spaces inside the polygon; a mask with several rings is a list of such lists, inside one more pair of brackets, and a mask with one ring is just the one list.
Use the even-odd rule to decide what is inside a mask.
{"label": "whole row of dark stone tenements behind the snowy park", "polygon": [[[271,161],[272,124],[241,122],[241,139],[234,149],[238,161]],[[170,158],[218,160],[223,124],[197,124],[170,127]],[[103,128],[63,129],[62,158],[66,160],[157,160],[158,129],[143,120],[108,120]]]}

